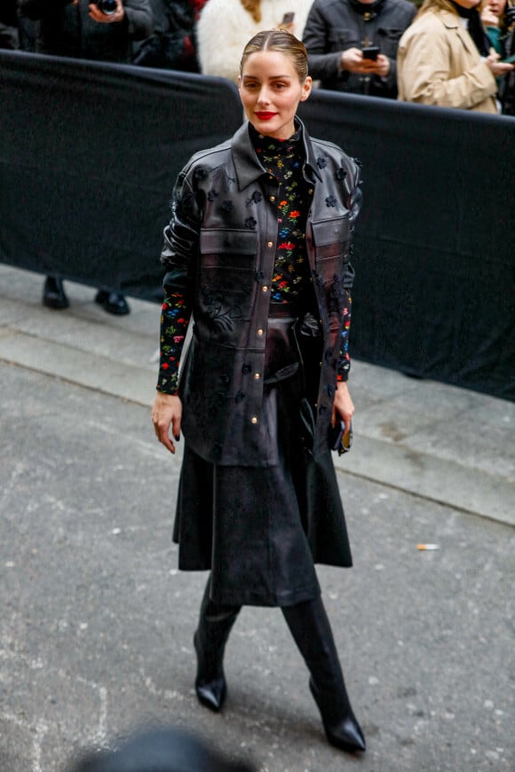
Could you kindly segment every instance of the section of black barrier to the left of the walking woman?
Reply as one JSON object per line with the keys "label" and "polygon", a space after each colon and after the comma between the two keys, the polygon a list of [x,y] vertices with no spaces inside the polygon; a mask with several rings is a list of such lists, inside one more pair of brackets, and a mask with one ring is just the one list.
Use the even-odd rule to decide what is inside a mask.
{"label": "section of black barrier to the left of the walking woman", "polygon": [[242,122],[233,83],[0,51],[0,260],[162,299],[175,178]]}

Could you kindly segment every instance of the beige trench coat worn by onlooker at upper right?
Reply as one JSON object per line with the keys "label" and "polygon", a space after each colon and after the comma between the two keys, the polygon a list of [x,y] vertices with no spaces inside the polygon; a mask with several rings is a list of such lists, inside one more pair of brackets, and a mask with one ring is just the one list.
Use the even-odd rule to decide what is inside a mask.
{"label": "beige trench coat worn by onlooker at upper right", "polygon": [[400,38],[399,98],[497,113],[495,77],[455,13],[426,12]]}

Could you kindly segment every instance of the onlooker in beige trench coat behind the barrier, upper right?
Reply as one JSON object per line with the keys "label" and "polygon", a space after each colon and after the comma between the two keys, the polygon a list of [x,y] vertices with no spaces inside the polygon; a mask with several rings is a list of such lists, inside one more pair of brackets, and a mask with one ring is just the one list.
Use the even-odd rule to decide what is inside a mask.
{"label": "onlooker in beige trench coat behind the barrier, upper right", "polygon": [[424,0],[399,43],[400,99],[499,112],[495,78],[513,67],[491,49],[478,6],[479,0]]}

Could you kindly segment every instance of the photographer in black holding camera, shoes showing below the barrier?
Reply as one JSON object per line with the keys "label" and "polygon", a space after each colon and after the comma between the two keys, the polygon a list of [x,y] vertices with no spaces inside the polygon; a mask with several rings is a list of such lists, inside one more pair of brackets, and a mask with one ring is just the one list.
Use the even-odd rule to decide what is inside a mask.
{"label": "photographer in black holding camera, shoes showing below the barrier", "polygon": [[[131,62],[131,42],[152,34],[150,0],[18,0],[20,14],[38,22],[36,51],[74,59]],[[100,288],[95,297],[105,311],[123,315],[131,309],[114,288]],[[62,279],[47,276],[43,303],[69,305]]]}

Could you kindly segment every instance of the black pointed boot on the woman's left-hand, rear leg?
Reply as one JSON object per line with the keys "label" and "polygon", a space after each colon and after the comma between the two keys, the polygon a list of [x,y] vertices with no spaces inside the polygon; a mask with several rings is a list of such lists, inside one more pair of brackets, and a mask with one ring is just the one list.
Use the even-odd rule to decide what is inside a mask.
{"label": "black pointed boot on the woman's left-hand, rear leg", "polygon": [[241,606],[222,606],[210,601],[210,579],[204,590],[199,626],[194,634],[197,653],[195,691],[199,701],[218,712],[226,698],[224,651]]}

